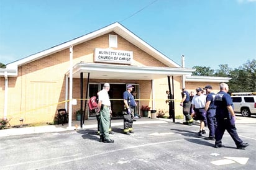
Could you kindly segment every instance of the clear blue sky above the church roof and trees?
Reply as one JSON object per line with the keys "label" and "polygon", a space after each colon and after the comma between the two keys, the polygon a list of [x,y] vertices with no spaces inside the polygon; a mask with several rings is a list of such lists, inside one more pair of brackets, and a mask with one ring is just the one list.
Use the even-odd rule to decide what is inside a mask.
{"label": "clear blue sky above the church roof and trees", "polygon": [[0,63],[114,22],[186,68],[256,58],[256,0],[0,0]]}

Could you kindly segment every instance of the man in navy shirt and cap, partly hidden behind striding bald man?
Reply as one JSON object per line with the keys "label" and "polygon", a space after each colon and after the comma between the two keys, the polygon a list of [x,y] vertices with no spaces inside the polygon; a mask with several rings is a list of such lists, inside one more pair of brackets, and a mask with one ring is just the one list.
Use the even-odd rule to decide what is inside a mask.
{"label": "man in navy shirt and cap, partly hidden behind striding bald man", "polygon": [[209,128],[209,138],[206,138],[206,139],[214,140],[214,133],[217,127],[217,122],[215,117],[216,105],[214,105],[215,93],[212,92],[213,87],[211,85],[207,85],[203,89],[206,90],[206,94],[207,94],[204,110],[206,112],[207,125]]}

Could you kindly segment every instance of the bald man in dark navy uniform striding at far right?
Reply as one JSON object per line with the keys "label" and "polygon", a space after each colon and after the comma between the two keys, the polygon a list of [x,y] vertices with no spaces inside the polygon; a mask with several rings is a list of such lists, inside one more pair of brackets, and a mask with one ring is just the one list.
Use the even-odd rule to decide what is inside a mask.
{"label": "bald man in dark navy uniform striding at far right", "polygon": [[216,105],[216,120],[217,128],[215,132],[215,148],[222,148],[222,136],[225,130],[231,135],[232,139],[237,146],[237,149],[244,150],[249,143],[244,143],[237,134],[237,129],[235,128],[235,113],[234,105],[231,96],[227,94],[229,91],[229,86],[226,83],[219,84],[220,90],[214,100]]}

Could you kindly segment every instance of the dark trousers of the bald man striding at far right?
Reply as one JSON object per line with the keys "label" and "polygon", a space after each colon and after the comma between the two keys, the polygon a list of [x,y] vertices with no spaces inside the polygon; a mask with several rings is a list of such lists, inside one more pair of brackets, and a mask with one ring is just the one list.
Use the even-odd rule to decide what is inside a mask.
{"label": "dark trousers of the bald man striding at far right", "polygon": [[235,125],[232,125],[229,118],[226,118],[226,119],[217,119],[217,128],[215,132],[216,145],[222,144],[221,140],[225,130],[227,130],[229,135],[231,135],[232,139],[235,142],[235,145],[239,146],[240,144],[243,143],[243,141],[239,138],[237,134],[237,128],[235,128]]}

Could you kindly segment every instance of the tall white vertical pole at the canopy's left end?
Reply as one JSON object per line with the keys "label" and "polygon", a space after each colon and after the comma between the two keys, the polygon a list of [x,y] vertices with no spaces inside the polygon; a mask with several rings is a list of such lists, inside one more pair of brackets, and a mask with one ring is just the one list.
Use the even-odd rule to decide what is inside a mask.
{"label": "tall white vertical pole at the canopy's left end", "polygon": [[70,101],[68,109],[68,128],[72,125],[72,100],[73,100],[73,46],[70,46]]}

